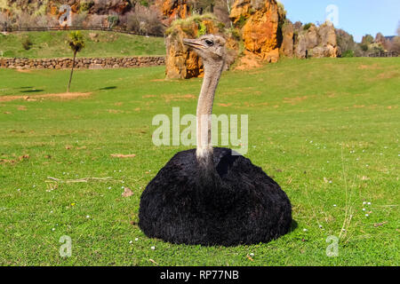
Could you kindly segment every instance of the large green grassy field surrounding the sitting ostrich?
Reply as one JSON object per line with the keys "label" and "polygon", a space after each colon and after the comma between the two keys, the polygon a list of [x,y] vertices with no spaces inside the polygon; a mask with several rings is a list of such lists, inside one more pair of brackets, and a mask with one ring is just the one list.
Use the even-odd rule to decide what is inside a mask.
{"label": "large green grassy field surrounding the sitting ostrich", "polygon": [[[0,69],[0,264],[398,265],[399,79],[400,59],[224,73],[214,113],[249,115],[246,156],[282,186],[296,221],[276,241],[224,248],[148,239],[136,225],[140,193],[188,148],[154,146],[152,118],[172,106],[194,114],[201,79],[166,81],[164,67],[77,70],[72,91],[89,97],[35,100],[64,92],[68,70]],[[59,255],[63,235],[71,257]],[[337,257],[326,256],[329,236],[340,238]]]}

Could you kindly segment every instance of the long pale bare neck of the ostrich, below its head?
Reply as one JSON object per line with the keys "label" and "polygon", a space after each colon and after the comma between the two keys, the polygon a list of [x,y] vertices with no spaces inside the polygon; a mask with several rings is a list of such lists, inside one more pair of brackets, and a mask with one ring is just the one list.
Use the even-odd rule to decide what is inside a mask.
{"label": "long pale bare neck of the ostrich, below its head", "polygon": [[212,103],[222,73],[223,61],[204,60],[204,80],[197,103],[197,160],[210,162],[212,157]]}

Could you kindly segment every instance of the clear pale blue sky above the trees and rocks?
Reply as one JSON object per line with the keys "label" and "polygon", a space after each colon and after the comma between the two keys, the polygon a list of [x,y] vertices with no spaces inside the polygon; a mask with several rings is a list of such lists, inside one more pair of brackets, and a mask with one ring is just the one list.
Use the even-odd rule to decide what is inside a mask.
{"label": "clear pale blue sky above the trees and rocks", "polygon": [[[400,20],[400,0],[280,0],[287,11],[287,18],[303,23],[319,21],[326,17],[337,20],[336,28],[342,28],[361,41],[365,34],[396,36]],[[331,9],[326,8],[334,6]],[[337,15],[337,17],[335,16]]]}

